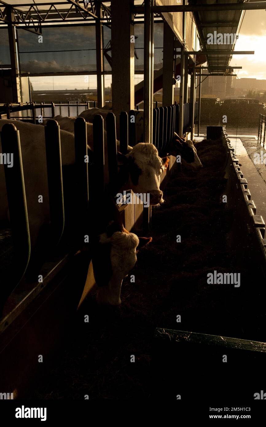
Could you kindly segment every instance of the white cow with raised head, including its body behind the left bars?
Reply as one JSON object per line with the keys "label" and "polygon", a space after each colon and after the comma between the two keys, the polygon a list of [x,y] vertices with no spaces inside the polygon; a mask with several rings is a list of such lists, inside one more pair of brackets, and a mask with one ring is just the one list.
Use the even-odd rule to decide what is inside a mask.
{"label": "white cow with raised head, including its body behind the left bars", "polygon": [[[44,126],[19,120],[0,120],[0,131],[7,123],[15,125],[20,132],[29,230],[31,245],[35,246],[41,225],[50,219]],[[74,135],[60,130],[60,138],[64,175],[66,167],[75,163]],[[120,154],[120,163],[123,166],[119,174],[121,188],[132,189],[135,193],[150,193],[151,205],[163,202],[159,186],[160,175],[165,166],[152,144],[137,144],[129,154]],[[8,202],[3,164],[0,164],[0,194],[0,221],[4,221],[8,219]],[[42,203],[38,202],[40,195]]]}

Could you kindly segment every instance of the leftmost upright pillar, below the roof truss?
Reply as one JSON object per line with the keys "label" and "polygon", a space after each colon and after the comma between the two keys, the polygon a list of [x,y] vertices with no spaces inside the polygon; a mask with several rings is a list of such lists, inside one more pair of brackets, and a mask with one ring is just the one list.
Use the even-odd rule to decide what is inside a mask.
{"label": "leftmost upright pillar, below the roof truss", "polygon": [[9,102],[21,102],[20,97],[20,79],[19,79],[19,66],[17,60],[17,46],[16,46],[16,33],[14,22],[14,12],[11,8],[7,10],[8,23],[8,36],[9,36],[9,51],[11,61],[11,84],[12,84],[12,98]]}

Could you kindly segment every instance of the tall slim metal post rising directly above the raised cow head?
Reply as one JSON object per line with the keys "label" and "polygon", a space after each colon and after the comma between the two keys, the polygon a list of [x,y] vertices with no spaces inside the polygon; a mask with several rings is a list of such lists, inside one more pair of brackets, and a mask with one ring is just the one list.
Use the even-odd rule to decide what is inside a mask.
{"label": "tall slim metal post rising directly above the raised cow head", "polygon": [[143,140],[152,142],[153,13],[152,0],[144,0],[144,123]]}

